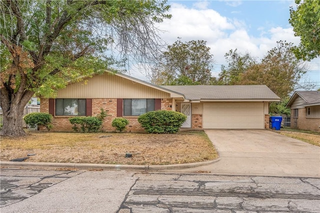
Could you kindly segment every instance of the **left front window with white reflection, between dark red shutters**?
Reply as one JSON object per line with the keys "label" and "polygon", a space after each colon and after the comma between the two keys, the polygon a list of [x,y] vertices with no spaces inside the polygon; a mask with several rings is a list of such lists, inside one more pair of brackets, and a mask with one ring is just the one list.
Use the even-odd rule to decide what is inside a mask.
{"label": "left front window with white reflection, between dark red shutters", "polygon": [[55,115],[85,115],[85,99],[55,99]]}

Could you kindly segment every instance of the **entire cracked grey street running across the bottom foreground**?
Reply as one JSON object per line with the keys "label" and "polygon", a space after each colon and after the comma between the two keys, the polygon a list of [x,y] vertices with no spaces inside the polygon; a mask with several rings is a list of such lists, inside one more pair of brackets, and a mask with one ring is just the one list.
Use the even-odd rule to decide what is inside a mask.
{"label": "entire cracked grey street running across the bottom foreground", "polygon": [[1,168],[1,213],[319,213],[320,179]]}

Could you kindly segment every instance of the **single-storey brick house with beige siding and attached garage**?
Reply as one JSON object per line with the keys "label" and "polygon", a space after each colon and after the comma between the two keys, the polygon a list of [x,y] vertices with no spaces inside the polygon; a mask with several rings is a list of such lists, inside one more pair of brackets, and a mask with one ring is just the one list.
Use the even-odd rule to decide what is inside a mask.
{"label": "single-storey brick house with beige siding and attached garage", "polygon": [[137,118],[153,110],[173,110],[187,116],[182,128],[264,129],[269,126],[268,105],[279,101],[265,85],[157,86],[124,74],[95,75],[86,83],[72,83],[55,99],[41,98],[41,112],[53,115],[53,130],[71,131],[69,118],[108,116],[103,130],[113,131],[116,117],[129,120],[128,131],[143,130]]}

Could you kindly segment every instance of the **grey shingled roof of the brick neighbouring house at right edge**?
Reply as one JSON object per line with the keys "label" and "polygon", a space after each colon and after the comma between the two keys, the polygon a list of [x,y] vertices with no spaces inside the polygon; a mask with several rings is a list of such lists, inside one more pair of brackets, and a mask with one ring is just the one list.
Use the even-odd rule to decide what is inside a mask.
{"label": "grey shingled roof of the brick neighbouring house at right edge", "polygon": [[286,106],[291,106],[297,97],[301,97],[305,101],[299,106],[320,105],[320,91],[295,91]]}

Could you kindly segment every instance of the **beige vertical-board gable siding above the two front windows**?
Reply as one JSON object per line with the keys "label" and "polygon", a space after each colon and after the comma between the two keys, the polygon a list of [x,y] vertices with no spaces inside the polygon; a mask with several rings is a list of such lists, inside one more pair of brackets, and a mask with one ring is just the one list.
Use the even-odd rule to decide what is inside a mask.
{"label": "beige vertical-board gable siding above the two front windows", "polygon": [[170,98],[170,94],[105,73],[68,85],[57,98]]}

